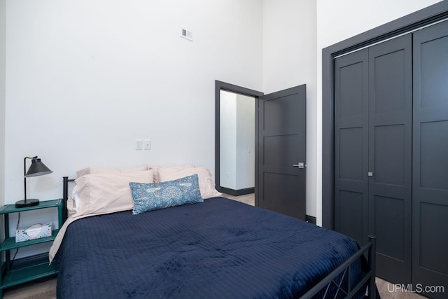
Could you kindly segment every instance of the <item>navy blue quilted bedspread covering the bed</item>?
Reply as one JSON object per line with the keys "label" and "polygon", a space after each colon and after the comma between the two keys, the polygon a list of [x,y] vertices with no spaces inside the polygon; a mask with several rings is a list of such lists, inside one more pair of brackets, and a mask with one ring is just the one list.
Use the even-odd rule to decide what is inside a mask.
{"label": "navy blue quilted bedspread covering the bed", "polygon": [[298,298],[357,250],[337,232],[221,197],[92,216],[64,236],[57,298]]}

